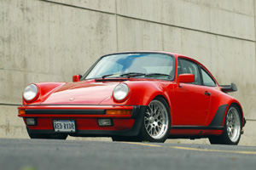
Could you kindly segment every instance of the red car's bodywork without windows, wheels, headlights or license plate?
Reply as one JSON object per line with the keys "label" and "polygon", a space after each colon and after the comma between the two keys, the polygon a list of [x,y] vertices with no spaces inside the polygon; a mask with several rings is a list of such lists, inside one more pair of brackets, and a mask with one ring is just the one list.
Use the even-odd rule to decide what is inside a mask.
{"label": "red car's bodywork without windows, wheels, headlights or license plate", "polygon": [[[156,97],[166,100],[170,109],[168,138],[204,138],[224,133],[225,117],[230,105],[236,105],[241,117],[241,128],[245,124],[239,101],[229,94],[233,88],[219,86],[207,68],[195,59],[167,52],[125,52],[119,54],[166,54],[175,61],[173,79],[148,77],[102,77],[73,82],[36,83],[38,94],[30,101],[23,98],[19,116],[24,119],[30,134],[53,134],[54,120],[74,120],[72,136],[132,137],[140,133],[143,113]],[[107,55],[108,56],[108,55]],[[103,56],[104,57],[104,56]],[[216,82],[215,87],[195,85],[191,74],[177,74],[178,60],[185,59],[198,65]],[[93,67],[93,66],[92,66]],[[190,80],[193,79],[193,80]],[[129,87],[125,99],[113,98],[113,90],[120,83]],[[119,112],[123,111],[123,112]],[[29,125],[26,118],[33,118]],[[111,121],[110,126],[99,126],[99,119]]]}

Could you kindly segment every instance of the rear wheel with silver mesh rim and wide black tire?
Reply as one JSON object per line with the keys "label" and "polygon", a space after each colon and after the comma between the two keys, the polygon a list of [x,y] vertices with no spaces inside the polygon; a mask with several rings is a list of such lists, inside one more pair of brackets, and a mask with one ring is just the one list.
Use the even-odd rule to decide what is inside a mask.
{"label": "rear wheel with silver mesh rim and wide black tire", "polygon": [[240,138],[241,138],[241,111],[236,105],[230,105],[229,110],[225,117],[223,133],[220,136],[209,137],[209,141],[211,144],[236,145],[239,143]]}

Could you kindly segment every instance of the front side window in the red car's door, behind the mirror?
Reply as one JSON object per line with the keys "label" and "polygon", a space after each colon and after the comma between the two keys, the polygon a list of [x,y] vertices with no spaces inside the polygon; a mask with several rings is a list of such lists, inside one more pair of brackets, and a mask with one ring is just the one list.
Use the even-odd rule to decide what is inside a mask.
{"label": "front side window in the red car's door, behind the mirror", "polygon": [[195,82],[192,82],[192,84],[201,85],[201,77],[198,65],[187,59],[179,59],[177,65],[177,75],[184,73],[194,74]]}

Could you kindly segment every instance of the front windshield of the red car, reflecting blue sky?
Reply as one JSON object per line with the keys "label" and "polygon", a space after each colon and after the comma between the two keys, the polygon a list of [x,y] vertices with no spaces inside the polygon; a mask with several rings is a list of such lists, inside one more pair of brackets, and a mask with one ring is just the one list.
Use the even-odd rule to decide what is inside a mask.
{"label": "front windshield of the red car, reflecting blue sky", "polygon": [[102,57],[82,79],[150,77],[173,80],[175,59],[167,54],[113,54]]}

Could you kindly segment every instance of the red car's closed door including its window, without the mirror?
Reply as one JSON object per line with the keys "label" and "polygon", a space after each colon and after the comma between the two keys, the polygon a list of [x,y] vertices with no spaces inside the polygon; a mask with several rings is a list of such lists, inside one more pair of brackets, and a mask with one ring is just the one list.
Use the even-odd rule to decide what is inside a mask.
{"label": "red car's closed door including its window, without the mirror", "polygon": [[195,82],[174,88],[173,125],[205,126],[207,122],[211,92],[202,84],[200,69],[192,60],[178,59],[177,74],[194,74]]}

